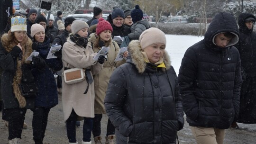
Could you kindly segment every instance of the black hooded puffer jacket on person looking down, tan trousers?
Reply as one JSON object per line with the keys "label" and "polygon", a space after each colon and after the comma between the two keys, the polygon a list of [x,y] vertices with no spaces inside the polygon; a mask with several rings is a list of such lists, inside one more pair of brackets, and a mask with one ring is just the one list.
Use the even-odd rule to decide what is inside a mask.
{"label": "black hooded puffer jacket on person looking down, tan trousers", "polygon": [[[225,48],[213,43],[222,32],[236,35]],[[221,12],[213,18],[204,39],[184,54],[178,80],[190,126],[227,129],[238,117],[242,78],[240,56],[232,46],[238,35],[235,18]]]}

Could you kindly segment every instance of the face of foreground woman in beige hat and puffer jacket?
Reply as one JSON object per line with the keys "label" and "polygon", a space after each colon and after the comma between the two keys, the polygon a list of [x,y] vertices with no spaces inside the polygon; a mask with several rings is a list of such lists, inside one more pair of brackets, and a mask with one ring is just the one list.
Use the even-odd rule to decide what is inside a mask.
{"label": "face of foreground woman in beige hat and puffer jacket", "polygon": [[146,53],[150,63],[156,63],[163,57],[165,53],[165,45],[155,43],[148,45],[143,51]]}

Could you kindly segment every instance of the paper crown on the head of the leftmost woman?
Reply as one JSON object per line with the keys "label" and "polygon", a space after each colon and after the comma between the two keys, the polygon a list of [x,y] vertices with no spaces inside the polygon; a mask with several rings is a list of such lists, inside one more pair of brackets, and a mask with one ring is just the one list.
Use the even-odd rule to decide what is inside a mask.
{"label": "paper crown on the head of the leftmost woman", "polygon": [[24,17],[16,16],[11,18],[11,32],[27,31],[27,20]]}

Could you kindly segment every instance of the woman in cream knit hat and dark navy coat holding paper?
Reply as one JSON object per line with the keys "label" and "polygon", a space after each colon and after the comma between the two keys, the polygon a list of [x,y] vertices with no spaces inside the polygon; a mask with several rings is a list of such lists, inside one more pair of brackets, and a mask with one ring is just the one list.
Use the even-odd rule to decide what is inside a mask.
{"label": "woman in cream knit hat and dark navy coat holding paper", "polygon": [[33,139],[35,144],[43,144],[48,114],[58,104],[57,86],[52,70],[61,70],[62,61],[60,58],[46,59],[51,45],[42,25],[33,24],[30,35],[33,37],[32,49],[39,52],[38,56],[32,57],[32,72],[38,88],[35,108],[31,109]]}

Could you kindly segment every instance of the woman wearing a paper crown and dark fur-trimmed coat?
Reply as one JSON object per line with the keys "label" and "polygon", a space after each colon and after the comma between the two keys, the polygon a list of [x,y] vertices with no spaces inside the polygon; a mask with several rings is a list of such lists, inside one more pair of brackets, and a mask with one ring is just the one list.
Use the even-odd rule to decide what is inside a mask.
{"label": "woman wearing a paper crown and dark fur-trimmed coat", "polygon": [[21,81],[34,81],[33,76],[26,75],[32,70],[31,61],[26,61],[33,51],[31,45],[26,18],[12,17],[11,28],[0,42],[2,119],[9,122],[9,144],[19,143],[27,109],[34,106],[35,97],[25,98],[19,88]]}

